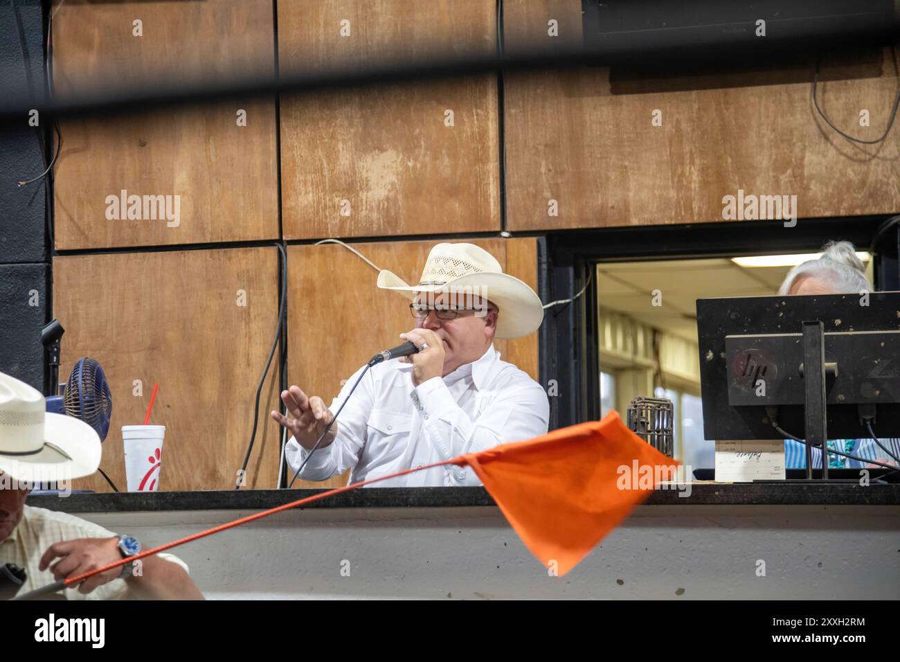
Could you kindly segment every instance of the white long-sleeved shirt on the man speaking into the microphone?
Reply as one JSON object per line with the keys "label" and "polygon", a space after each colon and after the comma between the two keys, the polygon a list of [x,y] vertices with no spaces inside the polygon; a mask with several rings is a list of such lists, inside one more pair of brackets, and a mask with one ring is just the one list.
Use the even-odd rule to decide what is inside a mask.
{"label": "white long-sleeved shirt on the man speaking into the microphone", "polygon": [[[347,398],[361,367],[330,406]],[[500,360],[493,345],[481,358],[444,377],[412,384],[412,365],[396,359],[374,367],[338,417],[338,435],[317,449],[299,477],[327,480],[350,472],[350,483],[476,453],[545,434],[547,394],[527,373]],[[285,457],[293,472],[307,458],[292,437]],[[431,467],[373,487],[481,485],[471,467]]]}

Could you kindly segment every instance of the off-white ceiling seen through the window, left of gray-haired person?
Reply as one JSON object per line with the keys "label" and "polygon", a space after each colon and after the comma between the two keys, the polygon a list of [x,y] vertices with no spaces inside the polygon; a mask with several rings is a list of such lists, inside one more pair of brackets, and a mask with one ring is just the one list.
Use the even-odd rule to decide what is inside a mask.
{"label": "off-white ceiling seen through the window, left of gray-haired person", "polygon": [[[789,270],[743,268],[727,258],[604,262],[597,266],[598,301],[697,342],[698,299],[774,295]],[[661,291],[661,306],[653,306],[653,290]]]}

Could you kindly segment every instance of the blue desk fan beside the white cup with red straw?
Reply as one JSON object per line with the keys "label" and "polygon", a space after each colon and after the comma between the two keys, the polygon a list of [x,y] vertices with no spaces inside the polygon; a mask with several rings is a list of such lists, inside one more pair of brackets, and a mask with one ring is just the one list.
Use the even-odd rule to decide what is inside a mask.
{"label": "blue desk fan beside the white cup with red straw", "polygon": [[[112,394],[100,364],[93,358],[79,358],[68,376],[63,394],[47,398],[47,411],[64,413],[85,422],[94,429],[101,441],[105,440],[112,419]],[[112,489],[118,492],[103,469],[98,468],[98,471]]]}

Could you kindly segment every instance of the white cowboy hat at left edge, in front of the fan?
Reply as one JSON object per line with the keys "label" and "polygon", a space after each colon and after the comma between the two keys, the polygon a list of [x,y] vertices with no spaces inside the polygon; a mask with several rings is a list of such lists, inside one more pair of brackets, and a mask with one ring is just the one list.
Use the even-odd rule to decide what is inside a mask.
{"label": "white cowboy hat at left edge, in front of the fan", "polygon": [[46,407],[40,391],[0,373],[0,472],[31,483],[93,474],[100,437],[87,423]]}

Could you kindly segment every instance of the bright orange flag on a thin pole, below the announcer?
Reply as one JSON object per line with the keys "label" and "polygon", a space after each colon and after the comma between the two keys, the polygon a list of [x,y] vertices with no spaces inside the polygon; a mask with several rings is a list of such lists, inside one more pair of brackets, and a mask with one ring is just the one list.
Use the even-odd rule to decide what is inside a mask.
{"label": "bright orange flag on a thin pole, below the announcer", "polygon": [[[616,412],[533,440],[460,456],[526,547],[563,576],[646,499],[678,463]],[[657,468],[659,467],[659,468]]]}

